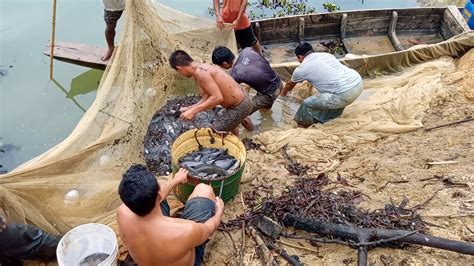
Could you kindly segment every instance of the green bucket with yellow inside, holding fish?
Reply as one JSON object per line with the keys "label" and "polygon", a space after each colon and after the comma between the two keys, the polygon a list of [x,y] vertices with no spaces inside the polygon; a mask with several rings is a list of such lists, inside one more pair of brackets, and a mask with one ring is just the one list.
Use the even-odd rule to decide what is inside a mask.
{"label": "green bucket with yellow inside, holding fish", "polygon": [[171,169],[173,173],[176,173],[179,169],[179,158],[190,152],[197,151],[199,145],[209,148],[227,148],[230,155],[240,160],[240,169],[230,176],[214,179],[212,181],[188,176],[187,183],[174,188],[176,197],[182,203],[186,203],[194,187],[199,183],[205,183],[212,186],[216,195],[219,195],[222,190],[222,200],[225,203],[229,202],[239,192],[240,179],[244,172],[245,161],[247,159],[245,145],[238,137],[232,134],[222,137],[220,134],[214,133],[210,128],[191,129],[181,134],[173,143],[171,148]]}

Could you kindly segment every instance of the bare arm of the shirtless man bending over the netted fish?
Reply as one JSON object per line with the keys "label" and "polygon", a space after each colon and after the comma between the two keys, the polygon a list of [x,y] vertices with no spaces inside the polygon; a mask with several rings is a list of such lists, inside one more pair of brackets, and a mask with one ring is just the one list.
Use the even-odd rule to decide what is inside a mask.
{"label": "bare arm of the shirtless man bending over the netted fish", "polygon": [[194,116],[202,111],[210,110],[216,107],[219,104],[222,104],[224,101],[224,96],[222,96],[219,86],[212,78],[211,74],[207,69],[203,69],[202,73],[196,78],[198,85],[203,89],[203,94],[207,94],[208,98],[200,103],[199,105],[194,106],[193,108],[187,110],[181,114],[181,118],[185,120],[191,120]]}

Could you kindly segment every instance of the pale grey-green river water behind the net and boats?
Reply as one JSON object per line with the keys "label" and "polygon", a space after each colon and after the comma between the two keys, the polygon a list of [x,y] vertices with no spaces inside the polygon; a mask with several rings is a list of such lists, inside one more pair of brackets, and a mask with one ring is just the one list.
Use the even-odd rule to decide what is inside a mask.
{"label": "pale grey-green river water behind the net and boats", "polygon": [[[101,0],[58,0],[56,40],[104,46]],[[211,0],[163,0],[181,11],[210,17]],[[308,1],[323,12],[325,1]],[[463,0],[335,0],[342,10],[462,5]],[[0,172],[50,149],[74,129],[95,92],[67,98],[71,81],[87,68],[42,55],[51,37],[52,0],[0,0]],[[120,27],[120,25],[119,25]],[[117,36],[118,39],[118,36]]]}

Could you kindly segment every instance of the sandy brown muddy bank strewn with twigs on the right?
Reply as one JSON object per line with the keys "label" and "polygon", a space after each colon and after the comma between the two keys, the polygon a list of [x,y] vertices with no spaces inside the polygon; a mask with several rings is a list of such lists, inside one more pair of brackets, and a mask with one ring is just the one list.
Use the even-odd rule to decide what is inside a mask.
{"label": "sandy brown muddy bank strewn with twigs on the right", "polygon": [[[422,128],[400,134],[386,134],[366,141],[347,138],[349,141],[340,142],[340,138],[330,134],[324,135],[326,137],[321,141],[318,140],[320,145],[326,147],[330,143],[323,141],[331,140],[340,145],[341,148],[335,150],[331,157],[337,164],[333,164],[327,173],[332,182],[337,182],[338,176],[344,177],[353,189],[370,197],[364,198],[358,207],[366,210],[383,209],[387,202],[400,203],[405,198],[409,199],[407,208],[427,202],[418,213],[426,222],[429,234],[453,240],[474,240],[474,122],[425,130],[466,119],[474,113],[474,87],[470,73],[470,69],[474,67],[473,59],[474,51],[471,51],[456,62],[457,71],[448,71],[449,73],[442,75],[440,82],[444,87],[443,94],[430,101],[422,113]],[[413,81],[407,80],[407,83],[410,82]],[[312,140],[304,144],[304,148],[308,149],[315,145]],[[296,158],[295,154],[297,153],[289,152],[292,158]],[[308,150],[306,154],[311,154],[313,158],[320,156],[320,152],[314,149]],[[310,161],[308,157],[296,159],[312,169],[319,170],[324,164],[319,162],[318,166],[317,160]],[[429,164],[442,161],[454,163]],[[243,194],[255,191],[263,184],[268,187],[269,195],[284,193],[300,179],[289,173],[286,163],[287,159],[280,152],[248,151],[241,185]],[[309,174],[312,174],[311,170]],[[225,220],[235,219],[242,214],[244,205],[251,205],[246,200],[244,198],[242,202],[239,196],[226,205]],[[296,233],[305,234],[297,230]],[[208,244],[206,261],[210,265],[238,264],[241,239],[241,229],[230,232],[230,235],[219,232]],[[286,244],[277,243],[278,245],[289,254],[298,255],[301,262],[307,265],[357,263],[357,252],[349,247],[337,244],[312,246],[304,240],[280,240]],[[245,264],[260,263],[256,246],[252,237],[247,235],[243,255]],[[286,263],[281,258],[277,258],[277,261]],[[471,256],[415,245],[403,249],[375,248],[369,253],[370,265],[468,265],[471,261]]]}

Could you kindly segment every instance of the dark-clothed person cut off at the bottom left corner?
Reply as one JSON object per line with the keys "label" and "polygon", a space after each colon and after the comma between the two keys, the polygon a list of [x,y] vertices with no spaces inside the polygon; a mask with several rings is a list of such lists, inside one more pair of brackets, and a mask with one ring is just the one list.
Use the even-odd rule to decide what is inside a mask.
{"label": "dark-clothed person cut off at the bottom left corner", "polygon": [[0,215],[0,265],[22,265],[22,260],[54,260],[58,235],[23,224],[8,224]]}

